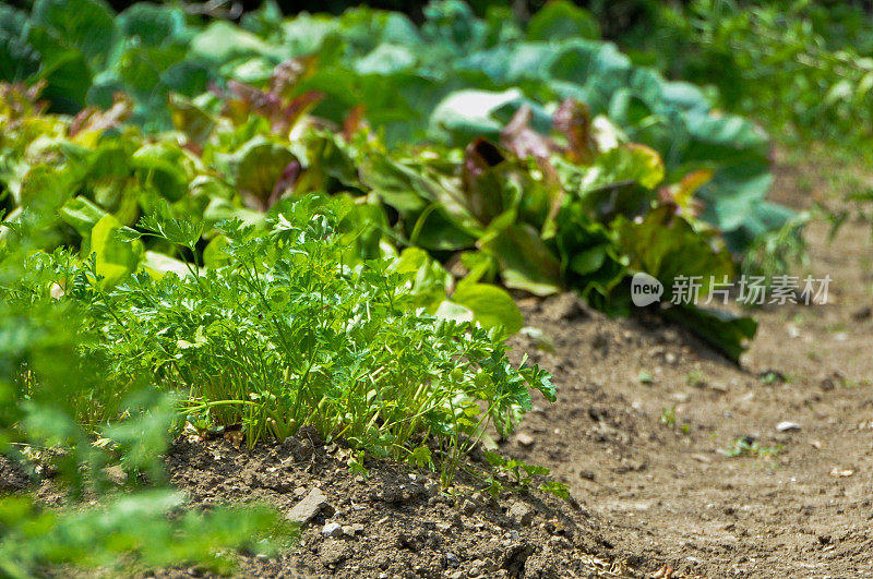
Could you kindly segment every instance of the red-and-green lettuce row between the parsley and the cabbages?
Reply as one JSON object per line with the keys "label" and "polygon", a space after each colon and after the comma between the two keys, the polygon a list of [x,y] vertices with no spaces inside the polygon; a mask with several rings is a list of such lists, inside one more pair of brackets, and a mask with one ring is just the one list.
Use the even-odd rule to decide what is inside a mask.
{"label": "red-and-green lettuce row between the parsley and the cabbages", "polygon": [[[419,306],[510,331],[522,318],[510,295],[489,285],[498,278],[539,295],[574,288],[605,311],[626,313],[635,272],[704,281],[732,275],[729,252],[695,218],[693,193],[708,174],[656,190],[660,156],[624,142],[577,101],[558,108],[550,136],[530,126],[524,107],[499,143],[390,150],[357,111],[342,130],[304,114],[321,97],[295,96],[300,81],[287,71],[301,65],[278,68],[268,92],[230,83],[229,93],[196,101],[175,97],[176,131],[153,136],[123,124],[132,107],[123,96],[107,111],[70,119],[41,113],[33,92],[5,87],[0,180],[13,207],[5,222],[27,209],[58,214],[61,241],[83,257],[95,253],[96,272],[112,286],[143,267],[155,275],[184,275],[191,262],[219,267],[227,245],[220,221],[263,227],[263,212],[279,198],[326,193],[347,201],[346,263],[395,255],[418,272]],[[123,231],[155,212],[192,218],[196,239],[182,250],[130,241]],[[749,319],[691,305],[668,315],[733,359],[754,334]]]}

